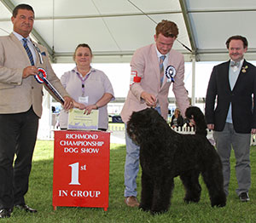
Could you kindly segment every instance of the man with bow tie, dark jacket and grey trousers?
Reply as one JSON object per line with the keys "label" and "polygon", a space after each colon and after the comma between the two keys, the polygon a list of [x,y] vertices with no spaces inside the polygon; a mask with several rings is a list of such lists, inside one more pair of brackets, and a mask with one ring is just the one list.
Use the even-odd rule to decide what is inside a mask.
{"label": "man with bow tie, dark jacket and grey trousers", "polygon": [[251,186],[250,139],[251,134],[256,133],[256,67],[243,58],[247,52],[246,37],[230,37],[226,46],[230,60],[213,67],[208,83],[207,127],[214,130],[226,195],[229,194],[232,146],[236,155],[236,193],[241,202],[247,202]]}

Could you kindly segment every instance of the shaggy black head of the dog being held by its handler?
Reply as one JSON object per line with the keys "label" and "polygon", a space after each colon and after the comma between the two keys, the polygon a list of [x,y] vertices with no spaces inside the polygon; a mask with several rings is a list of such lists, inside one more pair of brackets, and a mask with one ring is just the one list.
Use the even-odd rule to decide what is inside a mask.
{"label": "shaggy black head of the dog being held by its handler", "polygon": [[[133,111],[127,123],[127,134],[136,144],[140,145],[145,137],[150,137],[150,132],[154,133],[157,123],[166,121],[153,108],[146,108],[142,111]],[[148,139],[147,139],[148,140]]]}

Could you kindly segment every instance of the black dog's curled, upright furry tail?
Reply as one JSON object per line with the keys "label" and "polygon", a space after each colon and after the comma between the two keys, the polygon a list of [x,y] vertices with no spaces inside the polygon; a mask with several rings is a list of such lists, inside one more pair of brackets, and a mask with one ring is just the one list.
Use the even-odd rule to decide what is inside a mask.
{"label": "black dog's curled, upright furry tail", "polygon": [[207,136],[207,122],[203,112],[199,107],[191,106],[187,108],[185,115],[189,119],[195,121],[195,134],[202,134]]}

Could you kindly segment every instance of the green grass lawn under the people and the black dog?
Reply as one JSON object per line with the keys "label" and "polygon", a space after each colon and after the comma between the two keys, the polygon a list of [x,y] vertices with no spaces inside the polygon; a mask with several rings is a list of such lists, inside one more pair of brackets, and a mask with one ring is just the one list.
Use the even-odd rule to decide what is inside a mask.
{"label": "green grass lawn under the people and the black dog", "polygon": [[[152,216],[136,208],[129,208],[124,203],[124,165],[125,146],[111,145],[110,174],[109,174],[109,207],[103,209],[52,207],[52,177],[53,177],[53,141],[38,141],[33,157],[32,173],[30,177],[29,192],[26,194],[26,203],[38,209],[37,214],[26,214],[15,209],[11,218],[1,219],[2,222],[15,223],[161,223],[161,222],[206,222],[206,223],[244,223],[255,222],[256,209],[256,147],[251,150],[252,188],[251,201],[240,203],[236,196],[235,158],[231,157],[230,196],[226,207],[212,208],[207,189],[202,184],[201,201],[199,203],[183,203],[183,186],[178,178],[175,179],[175,188],[172,197],[172,206],[166,214]],[[140,175],[137,186],[140,194]],[[140,198],[138,196],[138,198]]]}

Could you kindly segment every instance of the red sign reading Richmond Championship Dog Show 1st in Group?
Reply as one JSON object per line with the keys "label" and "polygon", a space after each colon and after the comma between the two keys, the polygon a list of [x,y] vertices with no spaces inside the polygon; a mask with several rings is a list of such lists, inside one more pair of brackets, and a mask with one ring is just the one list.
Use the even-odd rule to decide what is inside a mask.
{"label": "red sign reading Richmond Championship Dog Show 1st in Group", "polygon": [[53,175],[57,206],[108,209],[110,133],[55,131]]}

